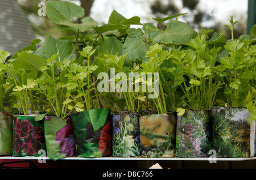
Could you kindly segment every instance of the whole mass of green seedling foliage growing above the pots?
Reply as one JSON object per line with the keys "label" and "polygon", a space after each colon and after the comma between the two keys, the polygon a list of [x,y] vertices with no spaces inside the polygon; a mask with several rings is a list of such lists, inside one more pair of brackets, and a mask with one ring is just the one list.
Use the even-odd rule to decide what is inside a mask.
{"label": "whole mass of green seedling foliage growing above the pots", "polygon": [[[108,23],[99,26],[84,9],[67,1],[48,1],[47,16],[70,33],[59,39],[48,36],[44,45],[40,40],[19,50],[6,61],[9,54],[0,52],[0,110],[3,99],[9,102],[8,111],[27,114],[36,110],[52,110],[64,118],[72,112],[94,108],[130,110],[158,110],[159,113],[178,109],[203,110],[213,106],[247,106],[255,114],[255,26],[250,36],[226,40],[224,35],[203,30],[197,33],[188,24],[177,20],[180,15],[154,19],[167,28],[141,23],[138,16],[125,18],[113,10]],[[81,23],[75,23],[74,19]],[[175,20],[172,20],[176,18]],[[230,16],[232,31],[237,21]],[[141,25],[141,28],[131,28]],[[233,37],[233,36],[232,36]],[[148,75],[151,85],[159,83],[159,96],[150,99],[152,92],[98,92],[97,76],[106,72],[111,87],[122,87],[125,79],[110,77],[111,69],[122,76],[129,73]],[[135,79],[135,77],[133,77]],[[130,77],[126,79],[128,84]],[[139,90],[147,83],[137,79]],[[129,85],[134,85],[129,84]],[[149,84],[148,84],[149,85]],[[110,90],[110,89],[108,89]],[[30,103],[29,103],[30,102]]]}

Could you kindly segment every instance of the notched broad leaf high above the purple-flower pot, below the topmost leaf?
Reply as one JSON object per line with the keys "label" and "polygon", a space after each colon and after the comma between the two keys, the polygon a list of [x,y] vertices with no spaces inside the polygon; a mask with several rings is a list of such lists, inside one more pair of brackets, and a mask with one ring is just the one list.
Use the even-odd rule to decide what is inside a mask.
{"label": "notched broad leaf high above the purple-flower pot, below the topmost leaf", "polygon": [[63,61],[72,53],[72,42],[69,40],[58,40],[52,36],[48,36],[44,43],[43,53],[46,58],[51,58],[52,55],[58,54],[59,61]]}

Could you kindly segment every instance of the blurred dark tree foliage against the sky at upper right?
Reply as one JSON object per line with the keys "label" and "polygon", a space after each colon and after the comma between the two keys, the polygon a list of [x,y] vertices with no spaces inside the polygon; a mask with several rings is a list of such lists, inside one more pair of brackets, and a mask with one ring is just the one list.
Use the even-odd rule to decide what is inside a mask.
{"label": "blurred dark tree foliage against the sky at upper right", "polygon": [[[203,22],[214,20],[214,16],[210,16],[208,10],[201,10],[197,5],[199,5],[200,0],[180,0],[183,7],[179,8],[175,2],[172,0],[155,0],[151,5],[152,13],[156,18],[164,18],[166,16],[171,16],[175,14],[180,14],[188,12],[187,15],[183,15],[182,19],[185,23],[191,25],[195,28],[197,32],[200,33],[202,29],[213,29],[214,32],[223,33],[226,38],[231,38],[231,32],[228,28],[224,27],[224,24],[220,22],[215,22],[211,27],[204,27]],[[182,10],[183,9],[183,10]],[[185,9],[185,10],[184,10]],[[181,12],[182,11],[182,12]],[[180,18],[179,18],[180,19]],[[242,17],[240,22],[234,27],[234,37],[238,38],[241,35],[246,34],[246,20]],[[162,24],[159,28],[165,28],[165,25]],[[209,34],[209,37],[212,35]]]}

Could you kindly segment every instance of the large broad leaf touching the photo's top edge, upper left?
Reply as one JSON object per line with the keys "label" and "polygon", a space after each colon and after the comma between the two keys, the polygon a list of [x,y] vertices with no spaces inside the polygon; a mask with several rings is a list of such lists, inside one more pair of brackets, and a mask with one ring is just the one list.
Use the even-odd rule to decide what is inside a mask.
{"label": "large broad leaf touching the photo's top edge, upper left", "polygon": [[63,25],[63,22],[73,23],[73,18],[82,18],[85,13],[84,8],[75,3],[67,1],[47,1],[46,14],[53,23]]}

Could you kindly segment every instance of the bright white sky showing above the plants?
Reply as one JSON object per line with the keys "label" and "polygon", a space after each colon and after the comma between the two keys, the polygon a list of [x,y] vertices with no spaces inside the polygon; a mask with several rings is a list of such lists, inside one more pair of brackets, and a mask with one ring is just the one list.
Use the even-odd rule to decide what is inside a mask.
{"label": "bright white sky showing above the plants", "polygon": [[[168,0],[164,0],[168,1]],[[94,0],[91,8],[91,15],[98,23],[108,23],[108,18],[113,10],[116,10],[125,18],[139,16],[141,23],[152,22],[150,4],[154,0]],[[177,7],[182,8],[181,0],[174,0]],[[234,16],[234,20],[247,19],[247,0],[200,0],[198,8],[206,11],[209,16],[213,16],[214,20],[222,24],[229,23],[230,15]],[[188,12],[183,9],[181,13]],[[189,14],[187,14],[189,15]],[[181,19],[179,19],[181,21]],[[204,22],[208,26],[214,22]]]}

